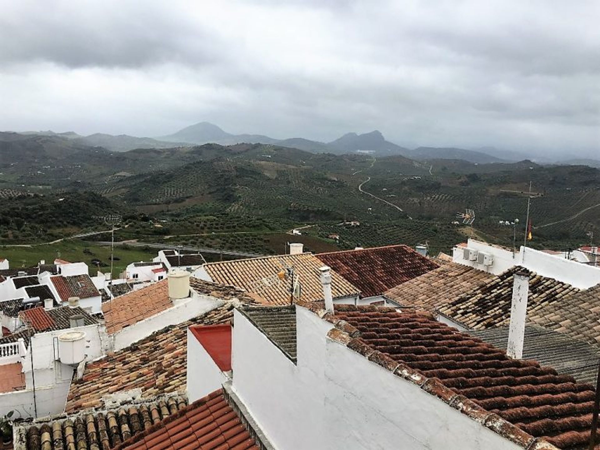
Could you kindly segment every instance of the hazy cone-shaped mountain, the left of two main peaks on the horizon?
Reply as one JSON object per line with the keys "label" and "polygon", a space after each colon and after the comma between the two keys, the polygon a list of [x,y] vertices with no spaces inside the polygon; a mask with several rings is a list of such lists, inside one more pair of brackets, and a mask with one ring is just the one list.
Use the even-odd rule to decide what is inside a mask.
{"label": "hazy cone-shaped mountain, the left of two main peaks on the horizon", "polygon": [[277,142],[277,139],[260,134],[230,134],[210,122],[200,122],[196,123],[196,125],[190,125],[174,134],[163,136],[159,139],[169,142],[187,142],[190,144],[215,143],[221,145],[239,143],[274,144]]}

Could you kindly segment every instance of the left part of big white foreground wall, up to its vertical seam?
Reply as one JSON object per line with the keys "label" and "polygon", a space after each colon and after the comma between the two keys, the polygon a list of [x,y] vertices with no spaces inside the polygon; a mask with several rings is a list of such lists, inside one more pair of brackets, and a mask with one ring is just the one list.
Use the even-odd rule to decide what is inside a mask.
{"label": "left part of big white foreground wall, up to its vertical seam", "polygon": [[[298,366],[241,313],[234,315],[232,388],[275,448],[324,448],[321,381],[331,324],[308,314],[297,317]],[[305,321],[314,323],[304,327]]]}

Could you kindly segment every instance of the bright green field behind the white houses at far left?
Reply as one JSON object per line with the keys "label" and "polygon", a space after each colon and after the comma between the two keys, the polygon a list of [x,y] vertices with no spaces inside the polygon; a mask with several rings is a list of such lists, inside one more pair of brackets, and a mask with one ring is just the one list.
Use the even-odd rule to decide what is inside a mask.
{"label": "bright green field behind the white houses at far left", "polygon": [[[149,261],[157,255],[157,252],[156,249],[145,249],[143,247],[115,246],[113,277],[118,277],[119,273],[125,270],[125,267],[131,262]],[[104,273],[110,271],[110,247],[98,246],[81,240],[69,240],[31,247],[0,246],[0,258],[7,258],[10,261],[11,268],[37,265],[41,259],[45,259],[46,263],[50,264],[55,258],[60,258],[71,262],[85,262],[89,266],[91,275],[95,275],[97,270]],[[101,261],[98,269],[96,269],[97,266],[92,264],[92,259]]]}

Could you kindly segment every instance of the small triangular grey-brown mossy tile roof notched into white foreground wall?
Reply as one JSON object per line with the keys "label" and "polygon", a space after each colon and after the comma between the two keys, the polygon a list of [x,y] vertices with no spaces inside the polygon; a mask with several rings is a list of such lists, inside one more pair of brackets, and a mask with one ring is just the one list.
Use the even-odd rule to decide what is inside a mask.
{"label": "small triangular grey-brown mossy tile roof notched into white foreground wall", "polygon": [[244,307],[239,309],[286,357],[296,361],[296,307]]}

